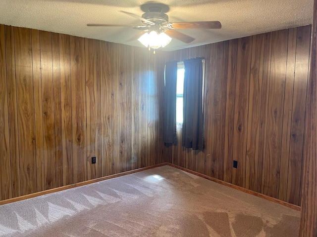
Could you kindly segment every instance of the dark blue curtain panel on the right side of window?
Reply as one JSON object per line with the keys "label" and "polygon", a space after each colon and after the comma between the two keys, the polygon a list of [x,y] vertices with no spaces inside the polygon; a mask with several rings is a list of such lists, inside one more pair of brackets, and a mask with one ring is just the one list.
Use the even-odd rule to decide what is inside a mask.
{"label": "dark blue curtain panel on the right side of window", "polygon": [[184,60],[182,146],[204,149],[203,58]]}

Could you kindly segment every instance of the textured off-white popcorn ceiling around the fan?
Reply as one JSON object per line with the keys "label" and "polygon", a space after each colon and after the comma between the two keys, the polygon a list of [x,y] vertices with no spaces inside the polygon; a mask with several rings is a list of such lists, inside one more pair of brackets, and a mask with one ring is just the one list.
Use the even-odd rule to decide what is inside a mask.
{"label": "textured off-white popcorn ceiling around the fan", "polygon": [[[87,27],[87,23],[135,24],[146,0],[0,0],[0,24],[142,46],[128,41],[138,30],[129,27]],[[218,30],[180,32],[196,40],[173,39],[164,50],[175,50],[312,23],[313,0],[161,0],[169,6],[169,22],[220,21]]]}

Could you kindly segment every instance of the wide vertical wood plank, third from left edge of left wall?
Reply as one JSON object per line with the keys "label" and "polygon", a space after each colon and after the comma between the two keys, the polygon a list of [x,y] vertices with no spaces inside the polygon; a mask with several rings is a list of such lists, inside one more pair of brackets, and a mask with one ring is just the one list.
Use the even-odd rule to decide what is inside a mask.
{"label": "wide vertical wood plank, third from left edge of left wall", "polygon": [[37,192],[31,30],[15,28],[14,45],[21,195],[27,195]]}

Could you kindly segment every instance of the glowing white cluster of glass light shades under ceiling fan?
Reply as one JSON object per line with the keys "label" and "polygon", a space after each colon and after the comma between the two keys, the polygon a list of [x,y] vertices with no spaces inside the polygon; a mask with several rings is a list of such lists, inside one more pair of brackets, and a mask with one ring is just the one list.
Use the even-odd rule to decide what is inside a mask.
{"label": "glowing white cluster of glass light shades under ceiling fan", "polygon": [[159,47],[165,47],[171,40],[164,32],[158,34],[156,31],[143,34],[138,39],[144,46],[157,49]]}

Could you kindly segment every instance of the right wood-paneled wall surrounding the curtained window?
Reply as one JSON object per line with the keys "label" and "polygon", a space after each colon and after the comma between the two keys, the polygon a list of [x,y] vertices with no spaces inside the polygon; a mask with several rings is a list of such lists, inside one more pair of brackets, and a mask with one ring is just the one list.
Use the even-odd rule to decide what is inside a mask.
{"label": "right wood-paneled wall surrounding the curtained window", "polygon": [[181,147],[177,128],[178,145],[160,156],[299,205],[310,39],[304,26],[160,55],[159,65],[206,58],[205,150]]}

